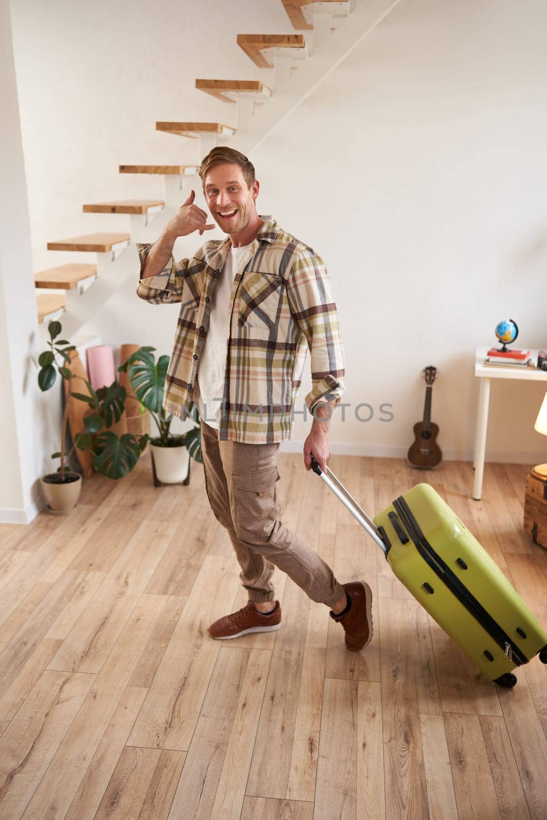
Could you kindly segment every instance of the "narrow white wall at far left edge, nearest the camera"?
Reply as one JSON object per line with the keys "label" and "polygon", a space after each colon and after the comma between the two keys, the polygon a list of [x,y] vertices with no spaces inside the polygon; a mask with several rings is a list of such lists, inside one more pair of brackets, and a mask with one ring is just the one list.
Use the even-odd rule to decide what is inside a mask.
{"label": "narrow white wall at far left edge, nearest the camera", "polygon": [[41,505],[42,397],[32,358],[37,321],[16,76],[7,0],[0,0],[0,521],[26,523]]}

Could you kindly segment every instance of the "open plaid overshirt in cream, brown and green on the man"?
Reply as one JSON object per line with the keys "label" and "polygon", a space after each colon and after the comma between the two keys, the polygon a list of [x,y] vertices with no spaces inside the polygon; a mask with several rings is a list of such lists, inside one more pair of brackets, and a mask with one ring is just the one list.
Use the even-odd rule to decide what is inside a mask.
{"label": "open plaid overshirt in cream, brown and green on the man", "polygon": [[[292,438],[292,415],[311,352],[318,401],[340,402],[344,348],[324,262],[271,216],[248,246],[230,294],[230,334],[219,439],[270,444]],[[151,244],[137,244],[140,276]],[[137,295],[153,304],[180,303],[163,407],[185,418],[207,340],[212,294],[230,251],[230,237],[213,239],[191,259],[171,262],[140,279]],[[219,397],[220,398],[220,397]],[[294,412],[294,411],[293,411]],[[299,411],[302,412],[302,411]]]}

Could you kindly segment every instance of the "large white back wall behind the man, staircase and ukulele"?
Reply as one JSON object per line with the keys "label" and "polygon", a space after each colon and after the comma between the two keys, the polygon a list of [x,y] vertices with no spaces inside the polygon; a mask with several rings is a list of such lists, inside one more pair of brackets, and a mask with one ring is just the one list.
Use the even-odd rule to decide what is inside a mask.
{"label": "large white back wall behind the man, staircase and ukulele", "polygon": [[[252,153],[259,212],[330,268],[344,399],[376,410],[368,423],[337,413],[333,451],[405,453],[422,416],[422,368],[434,364],[440,445],[469,458],[476,344],[513,317],[519,344],[547,347],[545,25],[541,0],[403,2]],[[162,195],[161,180],[118,175],[119,163],[198,159],[191,141],[157,134],[156,120],[231,124],[233,109],[195,91],[195,77],[267,82],[237,33],[293,31],[267,0],[19,0],[13,28],[37,270],[67,261],[45,251],[48,239],[126,227],[122,216],[81,214],[82,203]],[[136,277],[85,330],[170,353],[176,308],[140,302]],[[545,461],[532,429],[543,394],[494,385],[487,458]],[[389,424],[383,402],[394,405]],[[307,429],[298,421],[295,440]]]}

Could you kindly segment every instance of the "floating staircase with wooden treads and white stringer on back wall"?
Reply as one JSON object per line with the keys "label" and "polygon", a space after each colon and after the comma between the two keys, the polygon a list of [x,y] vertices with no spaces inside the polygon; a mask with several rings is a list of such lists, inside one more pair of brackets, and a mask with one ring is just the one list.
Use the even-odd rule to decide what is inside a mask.
{"label": "floating staircase with wooden treads and white stringer on back wall", "polygon": [[[280,121],[287,106],[294,104],[307,93],[312,84],[317,82],[335,61],[347,53],[353,42],[358,39],[358,32],[344,30],[345,34],[335,48],[331,48],[330,34],[334,30],[332,21],[338,16],[347,16],[353,11],[355,0],[281,0],[289,20],[294,28],[306,31],[303,34],[238,34],[236,42],[253,63],[261,69],[273,69],[271,81],[263,84],[260,80],[195,80],[195,88],[213,98],[234,105],[232,122],[237,122],[237,148],[248,153],[271,127]],[[368,14],[364,3],[360,2],[360,27],[367,31],[375,22],[374,11]],[[345,39],[344,39],[345,38]],[[319,51],[326,52],[328,59],[321,57],[306,63],[296,77],[294,67],[303,64],[313,49],[314,57]],[[330,61],[330,62],[329,62]],[[315,66],[312,69],[308,66]],[[315,73],[314,73],[315,72]],[[276,94],[280,89],[282,93]],[[291,90],[292,89],[292,90]],[[293,96],[292,103],[290,95]],[[270,99],[272,98],[272,99]],[[264,103],[255,109],[258,103]],[[93,317],[106,302],[107,298],[118,288],[123,276],[130,277],[134,268],[134,257],[123,257],[121,254],[130,243],[130,235],[139,241],[153,241],[156,235],[141,235],[141,230],[148,226],[148,217],[157,214],[167,206],[172,214],[183,201],[186,194],[182,189],[190,185],[198,189],[200,180],[196,180],[199,163],[211,148],[233,137],[236,128],[222,122],[194,121],[161,121],[156,123],[156,130],[164,134],[175,134],[193,140],[191,157],[185,157],[180,165],[121,165],[121,174],[162,175],[165,185],[164,199],[126,199],[86,203],[85,213],[126,214],[130,216],[130,233],[98,232],[69,239],[48,242],[48,250],[91,252],[97,254],[96,264],[73,263],[40,271],[34,276],[36,288],[56,289],[63,293],[39,293],[37,303],[39,321],[66,311],[63,319],[63,334],[70,334],[84,326],[85,321]],[[185,148],[185,150],[188,150]],[[161,194],[160,194],[161,195]],[[165,217],[166,219],[169,216]],[[112,269],[116,266],[116,271]],[[93,285],[93,287],[90,287]],[[86,292],[85,298],[80,298]]]}

